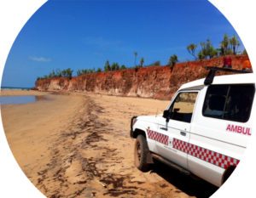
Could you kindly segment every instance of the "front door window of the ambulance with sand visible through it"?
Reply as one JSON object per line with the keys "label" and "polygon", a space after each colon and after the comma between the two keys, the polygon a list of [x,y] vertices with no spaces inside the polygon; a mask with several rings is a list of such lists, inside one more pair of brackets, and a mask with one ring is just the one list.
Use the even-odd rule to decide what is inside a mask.
{"label": "front door window of the ambulance with sand visible through it", "polygon": [[181,122],[191,122],[197,93],[178,93],[170,108],[171,119]]}

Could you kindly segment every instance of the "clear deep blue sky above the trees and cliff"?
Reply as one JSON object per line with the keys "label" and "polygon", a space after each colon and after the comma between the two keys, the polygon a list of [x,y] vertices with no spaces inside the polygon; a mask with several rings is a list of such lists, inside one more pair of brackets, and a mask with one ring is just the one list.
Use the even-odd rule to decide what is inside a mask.
{"label": "clear deep blue sky above the trees and cliff", "polygon": [[[187,46],[209,38],[219,47],[224,34],[237,36],[224,15],[206,0],[55,0],[27,21],[10,50],[2,86],[33,87],[53,69],[103,68],[106,60],[134,66],[172,54],[192,60]],[[243,50],[243,46],[239,48]]]}

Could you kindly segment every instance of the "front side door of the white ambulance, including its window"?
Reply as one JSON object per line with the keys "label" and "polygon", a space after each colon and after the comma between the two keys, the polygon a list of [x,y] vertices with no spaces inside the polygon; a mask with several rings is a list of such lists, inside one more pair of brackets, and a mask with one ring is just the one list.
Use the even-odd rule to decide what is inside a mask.
{"label": "front side door of the white ambulance, including its window", "polygon": [[[170,119],[159,119],[159,141],[155,146],[160,156],[187,168],[187,144],[197,91],[183,91],[169,107]],[[166,138],[165,138],[166,137]]]}

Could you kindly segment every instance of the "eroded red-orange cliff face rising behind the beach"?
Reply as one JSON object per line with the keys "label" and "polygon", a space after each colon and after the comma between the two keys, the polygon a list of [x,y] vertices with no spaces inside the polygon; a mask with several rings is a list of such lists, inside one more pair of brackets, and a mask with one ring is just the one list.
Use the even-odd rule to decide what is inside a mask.
{"label": "eroded red-orange cliff face rising behind the beach", "polygon": [[[233,69],[241,69],[247,56],[230,56]],[[207,76],[206,66],[222,66],[223,58],[178,63],[173,71],[169,65],[144,67],[138,70],[120,70],[67,77],[48,78],[36,82],[42,91],[79,91],[137,96],[153,99],[171,99],[183,83]]]}

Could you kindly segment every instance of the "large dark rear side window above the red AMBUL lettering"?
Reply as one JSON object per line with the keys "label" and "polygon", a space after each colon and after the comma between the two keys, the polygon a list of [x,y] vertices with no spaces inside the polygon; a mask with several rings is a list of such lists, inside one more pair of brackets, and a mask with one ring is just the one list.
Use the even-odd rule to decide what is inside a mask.
{"label": "large dark rear side window above the red AMBUL lettering", "polygon": [[253,84],[211,85],[207,89],[202,114],[234,122],[247,122],[254,93]]}

